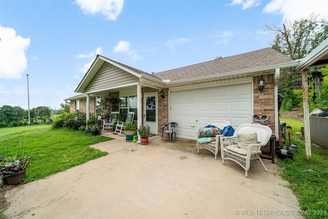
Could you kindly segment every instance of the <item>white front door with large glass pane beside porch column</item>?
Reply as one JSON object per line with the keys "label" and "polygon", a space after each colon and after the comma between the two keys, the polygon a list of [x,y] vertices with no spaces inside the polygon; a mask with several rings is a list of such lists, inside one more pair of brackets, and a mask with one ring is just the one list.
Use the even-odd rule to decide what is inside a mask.
{"label": "white front door with large glass pane beside porch column", "polygon": [[157,92],[144,94],[144,125],[149,125],[152,134],[158,133]]}

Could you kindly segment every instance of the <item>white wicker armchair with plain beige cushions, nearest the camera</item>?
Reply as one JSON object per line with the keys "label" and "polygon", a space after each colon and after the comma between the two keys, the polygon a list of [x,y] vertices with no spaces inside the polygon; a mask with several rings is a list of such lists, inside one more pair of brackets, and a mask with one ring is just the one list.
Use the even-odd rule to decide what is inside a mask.
{"label": "white wicker armchair with plain beige cushions, nearest the camera", "polygon": [[[252,160],[260,160],[265,171],[260,155],[261,147],[267,145],[272,135],[272,130],[268,126],[258,124],[242,124],[233,136],[220,137],[222,164],[224,160],[231,160],[239,164],[245,170],[245,176],[248,177]],[[238,139],[238,144],[234,144],[233,139]]]}

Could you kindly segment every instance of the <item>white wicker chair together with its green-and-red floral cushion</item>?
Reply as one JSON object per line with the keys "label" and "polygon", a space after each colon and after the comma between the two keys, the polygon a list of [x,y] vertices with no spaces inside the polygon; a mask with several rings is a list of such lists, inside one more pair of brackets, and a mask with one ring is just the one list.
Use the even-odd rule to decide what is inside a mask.
{"label": "white wicker chair together with its green-and-red floral cushion", "polygon": [[[212,125],[215,126],[217,128],[219,128],[220,130],[222,130],[224,127],[226,126],[230,126],[231,124],[228,121],[221,121],[221,120],[212,120],[208,123],[208,125]],[[201,130],[206,131],[206,129],[201,128],[199,130],[196,131],[196,137],[197,137],[197,152],[199,153],[199,149],[203,148],[203,149],[207,149],[209,151],[211,151],[212,153],[214,153],[215,155],[215,160],[216,160],[216,156],[219,152],[219,146],[220,146],[220,137],[223,136],[223,134],[220,134],[221,132],[218,132],[218,130],[214,130],[213,129],[208,129],[207,134],[202,134]],[[212,134],[209,134],[212,133]],[[203,136],[200,136],[203,135]]]}

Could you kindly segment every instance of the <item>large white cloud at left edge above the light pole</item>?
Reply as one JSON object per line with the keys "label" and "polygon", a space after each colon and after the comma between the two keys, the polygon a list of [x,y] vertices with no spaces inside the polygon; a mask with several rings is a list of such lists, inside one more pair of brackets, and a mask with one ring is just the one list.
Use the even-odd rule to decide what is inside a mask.
{"label": "large white cloud at left edge above the light pole", "polygon": [[27,69],[26,50],[30,38],[16,35],[16,31],[0,25],[0,78],[20,78]]}

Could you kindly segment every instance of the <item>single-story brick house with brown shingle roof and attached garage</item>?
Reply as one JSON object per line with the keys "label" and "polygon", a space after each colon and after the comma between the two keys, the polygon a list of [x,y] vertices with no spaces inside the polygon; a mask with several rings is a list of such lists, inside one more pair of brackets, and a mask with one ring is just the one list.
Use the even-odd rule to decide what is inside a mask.
{"label": "single-story brick house with brown shingle roof and attached garage", "polygon": [[120,112],[134,111],[138,126],[148,124],[158,134],[163,125],[177,122],[177,137],[190,140],[210,120],[227,120],[236,128],[252,123],[254,114],[268,115],[278,133],[280,68],[298,63],[264,48],[150,74],[97,55],[75,89],[81,94],[65,101],[70,101],[71,112],[85,111],[89,118],[101,97],[116,96],[124,101]]}

